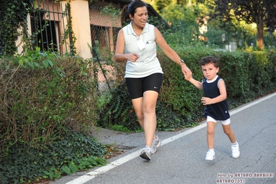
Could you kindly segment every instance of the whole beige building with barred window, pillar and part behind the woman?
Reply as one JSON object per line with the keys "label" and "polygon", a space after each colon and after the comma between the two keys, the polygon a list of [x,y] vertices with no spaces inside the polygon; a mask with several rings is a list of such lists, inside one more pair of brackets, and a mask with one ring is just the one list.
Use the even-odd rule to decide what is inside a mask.
{"label": "whole beige building with barred window, pillar and part behind the woman", "polygon": [[[83,58],[94,57],[97,50],[101,54],[104,50],[113,52],[114,35],[121,28],[120,17],[103,13],[102,9],[111,6],[120,10],[129,3],[131,0],[98,0],[91,4],[88,0],[35,0],[33,12],[28,15],[29,35],[35,35],[35,45],[41,50],[70,53],[75,42],[73,48]],[[149,15],[160,17],[150,5]],[[17,46],[21,53],[21,37]]]}

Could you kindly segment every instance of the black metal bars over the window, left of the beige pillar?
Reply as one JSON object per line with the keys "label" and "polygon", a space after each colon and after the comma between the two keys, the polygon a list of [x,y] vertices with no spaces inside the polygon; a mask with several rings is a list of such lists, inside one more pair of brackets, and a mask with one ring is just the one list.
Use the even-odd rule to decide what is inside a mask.
{"label": "black metal bars over the window, left of the beige pillar", "polygon": [[35,46],[41,50],[67,53],[71,42],[70,31],[66,31],[69,8],[53,0],[35,0],[30,13],[30,25]]}

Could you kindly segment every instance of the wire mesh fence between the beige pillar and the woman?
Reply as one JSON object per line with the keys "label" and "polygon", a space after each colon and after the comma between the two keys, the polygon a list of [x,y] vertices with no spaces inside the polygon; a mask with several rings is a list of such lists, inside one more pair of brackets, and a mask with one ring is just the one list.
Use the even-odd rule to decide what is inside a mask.
{"label": "wire mesh fence between the beige pillar and the woman", "polygon": [[91,6],[91,44],[98,91],[109,91],[124,80],[125,64],[114,62],[113,55],[120,18],[107,13],[102,7]]}

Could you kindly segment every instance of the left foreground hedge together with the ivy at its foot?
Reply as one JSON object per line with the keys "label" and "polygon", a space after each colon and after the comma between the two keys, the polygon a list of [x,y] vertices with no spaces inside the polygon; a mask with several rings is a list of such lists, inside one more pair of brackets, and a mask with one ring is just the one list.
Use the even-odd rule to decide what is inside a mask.
{"label": "left foreground hedge together with the ivy at its foot", "polygon": [[104,165],[89,135],[97,80],[91,59],[40,52],[0,58],[0,183],[60,178]]}

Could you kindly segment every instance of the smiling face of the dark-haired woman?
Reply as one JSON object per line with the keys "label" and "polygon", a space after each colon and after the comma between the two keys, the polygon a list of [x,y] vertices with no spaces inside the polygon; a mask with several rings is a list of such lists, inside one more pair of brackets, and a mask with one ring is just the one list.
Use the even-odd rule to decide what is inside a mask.
{"label": "smiling face of the dark-haired woman", "polygon": [[136,8],[136,12],[134,13],[134,17],[129,15],[131,20],[136,24],[136,26],[144,28],[147,23],[147,18],[149,17],[147,12],[147,7],[143,6],[140,8]]}

